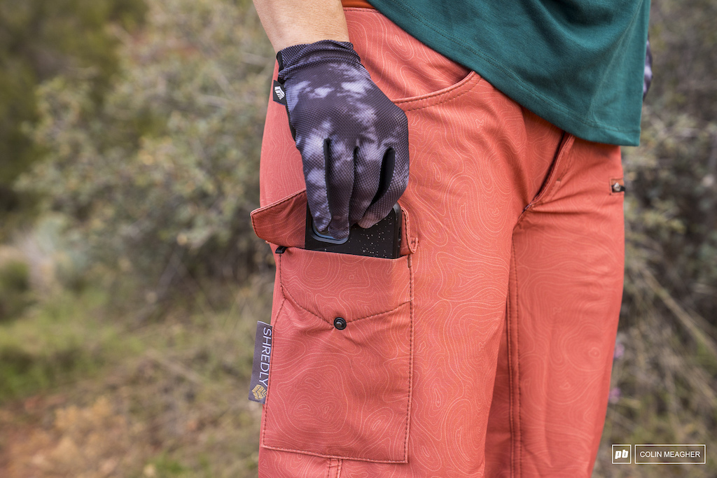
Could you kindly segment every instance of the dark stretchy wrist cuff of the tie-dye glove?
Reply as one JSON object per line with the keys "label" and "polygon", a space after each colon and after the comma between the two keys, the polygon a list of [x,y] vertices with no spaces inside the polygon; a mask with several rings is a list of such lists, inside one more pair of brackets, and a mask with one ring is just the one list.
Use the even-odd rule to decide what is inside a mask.
{"label": "dark stretchy wrist cuff of the tie-dye glove", "polygon": [[290,78],[296,70],[318,63],[341,62],[363,67],[353,44],[336,40],[320,40],[286,47],[276,54],[276,59],[279,62],[278,80],[281,83]]}

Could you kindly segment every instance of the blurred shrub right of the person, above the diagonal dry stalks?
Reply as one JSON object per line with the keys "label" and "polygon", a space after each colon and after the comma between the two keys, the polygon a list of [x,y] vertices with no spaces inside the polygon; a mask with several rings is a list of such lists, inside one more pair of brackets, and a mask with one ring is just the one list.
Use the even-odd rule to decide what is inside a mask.
{"label": "blurred shrub right of the person, above the diagonal dry stalks", "polygon": [[[626,148],[627,287],[639,259],[680,303],[717,327],[717,3],[657,0],[655,81],[640,148]],[[634,262],[634,261],[633,261]]]}

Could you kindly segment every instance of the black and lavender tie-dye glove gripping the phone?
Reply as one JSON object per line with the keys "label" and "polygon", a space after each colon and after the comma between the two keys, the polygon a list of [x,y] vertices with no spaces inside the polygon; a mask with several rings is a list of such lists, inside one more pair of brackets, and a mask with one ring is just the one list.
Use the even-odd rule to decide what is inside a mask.
{"label": "black and lavender tie-dye glove gripping the phone", "polygon": [[408,120],[348,42],[282,49],[279,82],[317,229],[336,239],[383,219],[408,184]]}

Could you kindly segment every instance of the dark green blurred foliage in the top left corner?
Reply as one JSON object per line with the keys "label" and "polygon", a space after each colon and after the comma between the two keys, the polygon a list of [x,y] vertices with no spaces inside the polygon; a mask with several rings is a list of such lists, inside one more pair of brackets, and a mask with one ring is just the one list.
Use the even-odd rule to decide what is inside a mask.
{"label": "dark green blurred foliage in the top left corner", "polygon": [[108,24],[132,30],[145,10],[143,0],[0,2],[0,219],[21,205],[11,183],[41,153],[24,131],[37,120],[35,87],[66,72],[91,72],[92,98],[100,101],[118,69]]}

